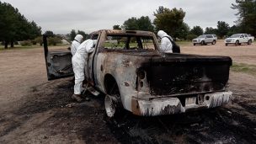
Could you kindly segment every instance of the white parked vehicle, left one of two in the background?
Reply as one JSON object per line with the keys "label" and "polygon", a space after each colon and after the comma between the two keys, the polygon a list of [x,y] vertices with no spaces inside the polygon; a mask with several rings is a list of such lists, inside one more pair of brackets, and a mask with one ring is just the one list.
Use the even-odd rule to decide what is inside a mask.
{"label": "white parked vehicle, left one of two in the background", "polygon": [[200,35],[196,39],[193,39],[193,45],[200,44],[200,45],[207,45],[207,44],[216,44],[217,37],[216,35]]}

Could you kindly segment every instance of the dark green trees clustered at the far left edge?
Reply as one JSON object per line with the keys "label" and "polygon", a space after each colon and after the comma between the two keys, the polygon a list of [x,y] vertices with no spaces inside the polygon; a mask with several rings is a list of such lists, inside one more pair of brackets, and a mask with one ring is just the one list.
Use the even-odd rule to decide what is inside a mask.
{"label": "dark green trees clustered at the far left edge", "polygon": [[29,22],[18,8],[0,2],[0,41],[5,48],[13,47],[15,41],[33,40],[41,35],[41,28],[34,21]]}

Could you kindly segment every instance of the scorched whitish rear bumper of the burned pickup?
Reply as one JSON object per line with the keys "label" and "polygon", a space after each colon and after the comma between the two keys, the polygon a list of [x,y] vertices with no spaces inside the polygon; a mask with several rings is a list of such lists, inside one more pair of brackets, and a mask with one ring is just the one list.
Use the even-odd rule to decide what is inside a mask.
{"label": "scorched whitish rear bumper of the burned pickup", "polygon": [[155,116],[155,115],[173,115],[184,113],[195,109],[209,109],[230,101],[232,92],[205,94],[205,100],[202,104],[197,104],[196,97],[188,98],[189,103],[182,104],[179,98],[165,97],[156,99],[132,99],[132,113],[134,115]]}

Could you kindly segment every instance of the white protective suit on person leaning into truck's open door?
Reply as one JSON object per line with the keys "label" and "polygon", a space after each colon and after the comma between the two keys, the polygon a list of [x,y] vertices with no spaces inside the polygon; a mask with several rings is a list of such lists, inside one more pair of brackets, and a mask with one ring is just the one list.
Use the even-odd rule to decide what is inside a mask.
{"label": "white protective suit on person leaning into truck's open door", "polygon": [[77,52],[72,56],[72,67],[75,73],[74,93],[81,94],[83,90],[84,70],[88,71],[88,53],[94,51],[93,40],[85,40],[77,47]]}

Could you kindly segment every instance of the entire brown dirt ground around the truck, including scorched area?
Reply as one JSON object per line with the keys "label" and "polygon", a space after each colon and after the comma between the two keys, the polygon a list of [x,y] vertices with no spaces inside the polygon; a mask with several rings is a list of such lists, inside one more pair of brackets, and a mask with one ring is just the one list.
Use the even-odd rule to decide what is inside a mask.
{"label": "entire brown dirt ground around the truck, including scorched area", "polygon": [[[182,52],[256,63],[255,43],[219,40]],[[109,120],[103,96],[76,104],[72,77],[47,81],[42,48],[0,51],[0,63],[0,143],[256,143],[256,78],[246,73],[231,72],[232,102],[220,108]]]}

